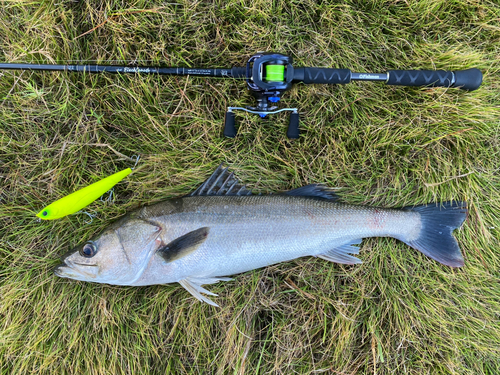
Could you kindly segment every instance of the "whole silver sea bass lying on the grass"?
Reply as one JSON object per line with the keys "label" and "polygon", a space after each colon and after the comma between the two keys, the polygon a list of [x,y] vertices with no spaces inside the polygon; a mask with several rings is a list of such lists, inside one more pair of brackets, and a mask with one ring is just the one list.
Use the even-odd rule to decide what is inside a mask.
{"label": "whole silver sea bass lying on the grass", "polygon": [[54,272],[113,285],[178,282],[217,306],[202,285],[304,256],[361,263],[351,254],[366,237],[394,237],[442,264],[463,266],[452,232],[466,215],[463,202],[403,209],[343,204],[318,184],[252,195],[219,166],[189,196],[141,208],[77,246]]}

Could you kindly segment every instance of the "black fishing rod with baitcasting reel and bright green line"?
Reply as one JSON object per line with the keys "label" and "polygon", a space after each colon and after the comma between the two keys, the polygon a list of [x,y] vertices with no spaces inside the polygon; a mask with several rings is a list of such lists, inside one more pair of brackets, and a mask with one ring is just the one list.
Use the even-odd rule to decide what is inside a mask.
{"label": "black fishing rod with baitcasting reel and bright green line", "polygon": [[457,87],[472,91],[479,88],[483,75],[479,69],[466,70],[388,70],[386,73],[355,73],[349,69],[294,67],[292,58],[274,52],[260,52],[247,61],[245,67],[232,68],[161,68],[114,65],[50,65],[0,63],[0,70],[64,71],[115,74],[158,74],[173,76],[202,76],[245,79],[247,88],[257,104],[247,107],[228,107],[224,121],[224,135],[233,138],[235,111],[259,115],[290,112],[288,138],[299,137],[299,111],[297,108],[281,108],[277,103],[294,83],[347,84],[352,81],[379,81],[393,86]]}

